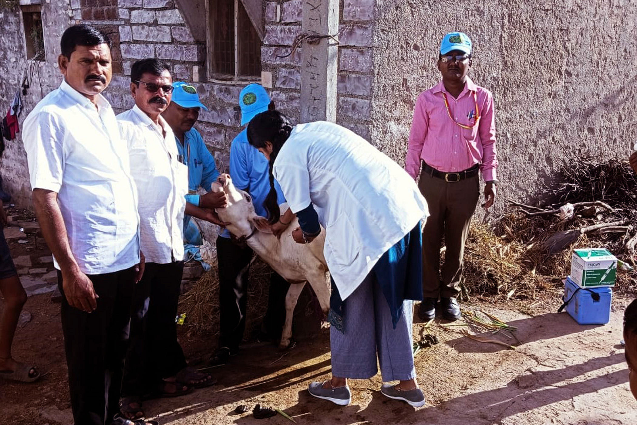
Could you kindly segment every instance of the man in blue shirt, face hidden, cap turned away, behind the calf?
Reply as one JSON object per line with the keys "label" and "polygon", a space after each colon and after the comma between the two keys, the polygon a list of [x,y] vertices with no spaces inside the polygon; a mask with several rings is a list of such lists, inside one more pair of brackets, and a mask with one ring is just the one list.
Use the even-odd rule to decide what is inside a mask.
{"label": "man in blue shirt, face hidden, cap turned away, behind the calf", "polygon": [[[239,96],[241,125],[248,124],[252,117],[268,108],[274,109],[268,93],[259,84],[249,84]],[[263,202],[270,191],[268,160],[248,143],[245,129],[233,140],[230,147],[230,176],[234,185],[252,196],[255,212],[262,217],[268,213]],[[285,202],[283,192],[275,182],[278,203]],[[273,224],[272,231],[279,236],[293,218],[292,212],[285,213]],[[231,240],[224,229],[217,238],[217,262],[219,264],[219,343],[217,351],[210,358],[210,366],[225,364],[230,356],[238,352],[239,343],[245,330],[245,316],[248,296],[248,273],[254,252],[250,247],[240,246]],[[290,284],[278,273],[272,272],[268,296],[268,311],[263,320],[266,337],[278,340],[285,321],[285,294]]]}

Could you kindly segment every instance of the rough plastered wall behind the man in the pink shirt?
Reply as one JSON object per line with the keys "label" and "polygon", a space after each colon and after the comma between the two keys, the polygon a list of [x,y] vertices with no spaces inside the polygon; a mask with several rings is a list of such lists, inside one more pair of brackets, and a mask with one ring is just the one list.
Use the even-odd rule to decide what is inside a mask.
{"label": "rough plastered wall behind the man in the pink shirt", "polygon": [[413,106],[440,81],[446,32],[475,45],[469,75],[494,94],[499,206],[536,194],[569,155],[636,138],[637,1],[377,0],[371,139],[404,164]]}

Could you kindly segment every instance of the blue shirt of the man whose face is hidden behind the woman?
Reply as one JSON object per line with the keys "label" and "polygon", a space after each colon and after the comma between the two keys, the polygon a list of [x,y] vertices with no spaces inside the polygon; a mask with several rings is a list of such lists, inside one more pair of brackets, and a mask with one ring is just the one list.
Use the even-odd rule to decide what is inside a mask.
{"label": "blue shirt of the man whose face is hidden behind the woman", "polygon": [[[230,177],[237,189],[250,193],[255,212],[268,217],[263,201],[270,192],[269,162],[257,148],[248,143],[247,134],[246,129],[243,129],[230,145]],[[276,180],[275,190],[276,200],[281,205],[285,202],[285,197]],[[230,232],[224,229],[220,236],[229,238]]]}

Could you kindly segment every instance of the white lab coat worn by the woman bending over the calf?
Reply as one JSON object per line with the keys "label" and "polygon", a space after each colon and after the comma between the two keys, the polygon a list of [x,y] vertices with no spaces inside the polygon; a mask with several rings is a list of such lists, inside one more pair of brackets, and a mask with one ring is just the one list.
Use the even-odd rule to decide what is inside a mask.
{"label": "white lab coat worn by the woman bending over the calf", "polygon": [[429,215],[404,169],[331,122],[294,127],[276,156],[273,174],[292,212],[314,205],[326,229],[323,253],[341,299]]}

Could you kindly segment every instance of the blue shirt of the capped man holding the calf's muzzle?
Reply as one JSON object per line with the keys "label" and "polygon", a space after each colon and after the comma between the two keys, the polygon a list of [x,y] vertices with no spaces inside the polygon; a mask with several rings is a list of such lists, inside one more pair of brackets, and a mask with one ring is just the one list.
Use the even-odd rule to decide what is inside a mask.
{"label": "blue shirt of the capped man holding the calf's muzzle", "polygon": [[[188,190],[195,192],[201,186],[209,192],[210,185],[217,180],[220,173],[217,171],[215,159],[203,143],[201,134],[192,127],[183,134],[183,145],[176,137],[175,141],[181,161],[188,166]],[[199,206],[199,195],[187,194],[186,201]]]}

